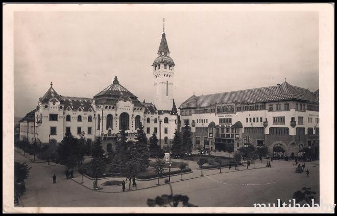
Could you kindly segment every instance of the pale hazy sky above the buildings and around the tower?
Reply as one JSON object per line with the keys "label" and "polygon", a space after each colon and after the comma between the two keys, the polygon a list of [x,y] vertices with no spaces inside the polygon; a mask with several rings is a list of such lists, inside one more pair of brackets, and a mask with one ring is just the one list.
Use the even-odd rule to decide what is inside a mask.
{"label": "pale hazy sky above the buildings and around the tower", "polygon": [[14,14],[14,116],[53,88],[92,98],[114,77],[154,101],[152,63],[163,31],[177,107],[196,95],[286,82],[319,89],[315,11],[63,11]]}

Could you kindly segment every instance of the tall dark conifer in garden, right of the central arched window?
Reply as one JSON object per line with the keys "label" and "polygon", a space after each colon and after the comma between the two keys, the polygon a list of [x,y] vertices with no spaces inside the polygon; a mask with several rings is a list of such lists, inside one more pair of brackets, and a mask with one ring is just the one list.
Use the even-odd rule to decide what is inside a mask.
{"label": "tall dark conifer in garden, right of the central arched window", "polygon": [[142,125],[139,127],[135,140],[136,143],[131,150],[131,157],[138,163],[140,171],[145,171],[150,164],[150,152],[148,149],[148,138],[143,131]]}

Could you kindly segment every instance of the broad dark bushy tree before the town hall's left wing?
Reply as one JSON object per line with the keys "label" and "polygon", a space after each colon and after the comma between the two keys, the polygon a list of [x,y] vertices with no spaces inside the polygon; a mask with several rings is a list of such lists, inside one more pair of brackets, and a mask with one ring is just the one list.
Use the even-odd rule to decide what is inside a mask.
{"label": "broad dark bushy tree before the town hall's left wing", "polygon": [[[57,147],[58,163],[65,165],[67,169],[74,169],[83,160],[83,154],[78,151],[80,143],[71,134],[65,134],[60,145]],[[81,157],[82,156],[82,157]]]}

